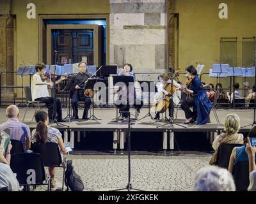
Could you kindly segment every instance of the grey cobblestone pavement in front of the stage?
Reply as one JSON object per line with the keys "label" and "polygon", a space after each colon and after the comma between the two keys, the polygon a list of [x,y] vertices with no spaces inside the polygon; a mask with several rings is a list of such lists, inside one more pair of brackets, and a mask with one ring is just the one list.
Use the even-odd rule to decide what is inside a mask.
{"label": "grey cobblestone pavement in front of the stage", "polygon": [[[131,184],[145,191],[189,191],[196,171],[209,164],[210,154],[196,156],[131,156]],[[84,182],[84,191],[109,191],[126,187],[128,183],[127,156],[70,155],[74,170]],[[62,172],[57,170],[57,189],[61,187]],[[45,191],[37,187],[36,191]]]}

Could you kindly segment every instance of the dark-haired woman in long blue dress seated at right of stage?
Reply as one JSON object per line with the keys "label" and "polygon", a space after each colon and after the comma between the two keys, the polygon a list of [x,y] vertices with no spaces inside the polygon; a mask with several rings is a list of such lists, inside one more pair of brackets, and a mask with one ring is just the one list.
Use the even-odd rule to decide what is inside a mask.
{"label": "dark-haired woman in long blue dress seated at right of stage", "polygon": [[[209,101],[200,78],[197,76],[197,71],[193,66],[186,68],[186,77],[189,78],[191,84],[189,87],[183,87],[182,91],[185,91],[188,95],[191,94],[192,97],[184,100],[180,106],[186,116],[184,124],[195,122],[195,119],[196,124],[205,124],[209,121],[212,103]],[[194,107],[193,112],[189,109],[191,106]]]}

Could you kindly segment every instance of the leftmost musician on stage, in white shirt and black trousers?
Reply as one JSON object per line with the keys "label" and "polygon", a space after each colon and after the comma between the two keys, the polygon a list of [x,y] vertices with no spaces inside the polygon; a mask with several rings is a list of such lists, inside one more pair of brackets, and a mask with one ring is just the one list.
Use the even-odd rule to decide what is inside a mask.
{"label": "leftmost musician on stage, in white shirt and black trousers", "polygon": [[[50,85],[52,88],[53,83],[51,80],[47,80],[46,82],[43,82],[41,76],[45,74],[45,64],[44,63],[38,63],[35,66],[36,73],[32,77],[32,83],[31,83],[31,94],[33,101],[42,101],[45,103],[45,105],[48,108],[48,115],[49,115],[49,121],[53,122],[53,105],[54,105],[54,98],[49,96],[49,91],[47,88],[47,85]],[[56,84],[60,83],[62,80],[65,80],[66,77],[61,76],[59,80],[56,80]],[[57,113],[57,121],[58,122],[65,122],[65,120],[62,119],[62,109],[61,109],[61,102],[60,99],[56,98],[56,106],[55,111]]]}

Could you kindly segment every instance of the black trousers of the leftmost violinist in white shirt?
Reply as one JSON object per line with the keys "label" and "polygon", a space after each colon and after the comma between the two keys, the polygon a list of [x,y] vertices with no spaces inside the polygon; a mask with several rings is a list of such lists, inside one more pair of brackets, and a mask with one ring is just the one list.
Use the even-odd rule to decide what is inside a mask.
{"label": "black trousers of the leftmost violinist in white shirt", "polygon": [[[52,97],[41,97],[41,98],[36,98],[35,101],[42,101],[46,104],[46,106],[48,108],[49,120],[51,120],[52,116],[53,116],[54,98],[52,98]],[[55,111],[57,113],[57,115],[56,115],[57,120],[58,121],[62,120],[61,102],[60,102],[60,99],[58,99],[58,98],[56,98],[56,102],[55,102]]]}

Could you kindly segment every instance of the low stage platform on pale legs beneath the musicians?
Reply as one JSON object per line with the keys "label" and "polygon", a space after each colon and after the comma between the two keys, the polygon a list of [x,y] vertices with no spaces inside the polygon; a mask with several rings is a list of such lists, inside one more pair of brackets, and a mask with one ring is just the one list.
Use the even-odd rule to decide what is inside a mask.
{"label": "low stage platform on pale legs beneath the musicians", "polygon": [[[22,118],[24,116],[25,108],[19,108],[20,110],[20,121],[22,121]],[[47,109],[43,109],[47,111]],[[176,111],[176,108],[175,108]],[[28,124],[29,128],[34,129],[36,128],[36,122],[33,120],[31,122],[31,119],[33,117],[33,113],[35,112],[35,109],[28,110],[26,114],[26,118],[24,120],[24,123]],[[148,112],[147,108],[142,108],[141,112],[138,116],[138,120],[132,119],[132,128],[131,128],[131,136],[134,138],[134,136],[145,136],[145,135],[151,135],[156,136],[156,140],[158,141],[161,146],[161,149],[166,152],[168,150],[174,149],[174,137],[175,135],[182,134],[187,136],[188,138],[195,138],[198,135],[205,135],[205,138],[209,141],[209,145],[214,140],[214,136],[220,134],[221,131],[223,131],[223,124],[225,120],[225,116],[228,113],[236,113],[239,115],[241,119],[241,127],[252,124],[253,122],[253,110],[247,109],[247,110],[234,110],[234,109],[228,109],[228,110],[222,110],[218,109],[216,110],[216,113],[218,115],[218,118],[220,119],[220,125],[217,124],[216,118],[214,117],[214,113],[211,112],[211,123],[205,124],[205,125],[195,125],[195,124],[189,124],[189,125],[182,125],[181,127],[177,124],[181,124],[184,122],[184,112],[182,110],[178,110],[177,113],[177,119],[174,120],[173,126],[171,124],[168,124],[166,121],[158,121],[150,119],[150,117],[146,117],[145,119],[140,120],[144,115],[146,115]],[[1,115],[5,115],[5,108],[0,108]],[[66,108],[63,109],[63,118],[67,115],[68,110]],[[92,113],[92,111],[91,111]],[[131,108],[131,113],[134,114],[135,110],[134,108]],[[83,109],[79,109],[79,116],[83,114]],[[114,150],[123,150],[125,149],[125,133],[128,129],[128,122],[127,121],[120,121],[115,120],[116,117],[116,109],[115,108],[94,108],[94,115],[99,120],[74,120],[72,122],[64,122],[62,124],[65,124],[66,126],[63,126],[62,124],[51,124],[52,127],[60,129],[61,133],[63,133],[63,140],[64,142],[70,142],[70,145],[72,148],[76,148],[77,145],[81,147],[81,144],[83,140],[81,140],[81,137],[84,136],[86,133],[90,133],[93,135],[94,140],[97,140],[97,137],[102,135],[108,135],[106,138],[104,138],[104,142],[109,143],[109,149]],[[154,116],[154,113],[152,113]],[[90,112],[89,112],[90,116]],[[163,117],[165,115],[163,114]],[[168,116],[168,115],[167,115]],[[161,115],[162,117],[162,115]],[[132,118],[134,118],[134,115],[132,115]],[[1,117],[0,119],[1,123],[6,121],[6,117]],[[166,124],[166,126],[161,126],[163,124]],[[252,125],[247,126],[246,128],[241,128],[241,133],[246,133],[250,131],[252,128]],[[174,134],[173,134],[174,133]],[[109,136],[110,135],[110,136]],[[160,136],[159,136],[160,135]],[[145,140],[145,138],[143,139]],[[147,140],[147,139],[146,139]],[[153,141],[153,142],[154,142]],[[112,145],[113,143],[113,145]],[[141,143],[140,145],[147,145],[146,143]],[[86,147],[90,147],[90,143],[86,144]],[[86,150],[86,149],[82,149]],[[148,147],[148,150],[150,150],[150,147]],[[187,149],[189,150],[189,149]]]}

